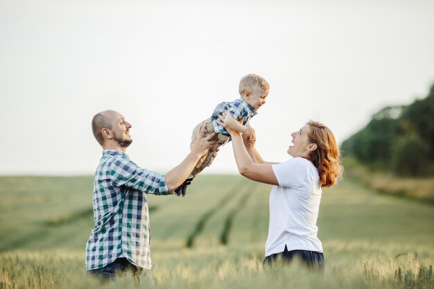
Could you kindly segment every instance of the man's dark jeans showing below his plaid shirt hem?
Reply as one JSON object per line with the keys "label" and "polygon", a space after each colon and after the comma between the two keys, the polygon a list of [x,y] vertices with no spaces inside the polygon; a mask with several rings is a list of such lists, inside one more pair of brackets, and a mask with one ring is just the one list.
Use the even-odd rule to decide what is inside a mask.
{"label": "man's dark jeans showing below his plaid shirt hem", "polygon": [[140,274],[142,268],[132,265],[126,258],[118,258],[109,265],[95,270],[88,270],[87,274],[98,277],[102,281],[110,281],[116,277],[125,275],[126,272],[131,272],[137,283],[140,282]]}

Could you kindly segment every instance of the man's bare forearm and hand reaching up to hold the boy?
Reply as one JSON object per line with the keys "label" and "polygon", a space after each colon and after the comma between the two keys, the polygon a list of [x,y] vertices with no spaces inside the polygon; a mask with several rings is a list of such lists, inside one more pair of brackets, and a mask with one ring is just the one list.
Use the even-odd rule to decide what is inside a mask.
{"label": "man's bare forearm and hand reaching up to hold the boy", "polygon": [[191,144],[189,155],[185,157],[181,164],[175,166],[175,168],[172,168],[168,173],[166,173],[165,179],[169,194],[172,194],[173,191],[177,189],[177,187],[180,186],[187,177],[189,177],[199,159],[205,155],[211,146],[214,146],[217,143],[217,141],[211,141],[211,139],[216,135],[215,132],[207,135],[207,137],[203,136],[204,132],[205,125],[202,126],[198,139]]}

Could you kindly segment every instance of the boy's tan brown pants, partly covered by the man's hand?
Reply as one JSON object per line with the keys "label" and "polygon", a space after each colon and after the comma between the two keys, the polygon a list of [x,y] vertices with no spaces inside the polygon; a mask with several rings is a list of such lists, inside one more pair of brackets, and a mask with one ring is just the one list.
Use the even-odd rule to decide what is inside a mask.
{"label": "boy's tan brown pants, partly covered by the man's hand", "polygon": [[[205,121],[200,122],[198,125],[196,125],[196,128],[194,128],[193,133],[191,134],[191,142],[193,143],[198,139],[199,132],[202,126],[206,124],[204,136],[206,137],[208,134],[211,134],[214,132],[214,126],[211,122],[211,119],[205,119]],[[209,148],[208,152],[199,159],[198,163],[194,167],[191,174],[196,177],[204,168],[207,166],[211,166],[212,161],[214,161],[214,152],[217,150],[218,147],[223,146],[225,143],[227,143],[227,140],[229,137],[223,135],[223,134],[216,134],[216,136],[212,140],[218,140],[218,143],[216,145],[211,146]]]}

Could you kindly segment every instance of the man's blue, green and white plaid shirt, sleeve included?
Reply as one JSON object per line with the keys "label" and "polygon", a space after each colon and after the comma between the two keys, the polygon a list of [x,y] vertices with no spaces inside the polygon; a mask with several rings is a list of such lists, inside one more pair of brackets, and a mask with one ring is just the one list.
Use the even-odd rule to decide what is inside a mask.
{"label": "man's blue, green and white plaid shirt, sleeve included", "polygon": [[119,150],[104,150],[94,182],[94,220],[86,245],[86,269],[116,258],[150,269],[150,229],[145,193],[168,195],[164,175],[145,170]]}

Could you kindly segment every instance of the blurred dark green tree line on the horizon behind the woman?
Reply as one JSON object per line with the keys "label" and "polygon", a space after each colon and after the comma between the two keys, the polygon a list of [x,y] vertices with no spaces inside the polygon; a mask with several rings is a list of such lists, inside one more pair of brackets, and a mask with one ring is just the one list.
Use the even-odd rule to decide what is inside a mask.
{"label": "blurred dark green tree line on the horizon behind the woman", "polygon": [[395,175],[434,175],[434,84],[410,105],[388,106],[342,143],[343,157]]}

